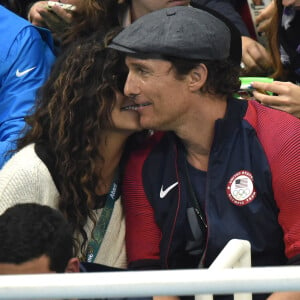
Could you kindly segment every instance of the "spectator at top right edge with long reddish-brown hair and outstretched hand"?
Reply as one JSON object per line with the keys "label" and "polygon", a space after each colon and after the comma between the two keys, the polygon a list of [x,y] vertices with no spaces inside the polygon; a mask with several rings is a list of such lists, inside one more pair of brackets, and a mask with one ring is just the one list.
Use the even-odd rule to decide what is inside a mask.
{"label": "spectator at top right edge with long reddish-brown hair and outstretched hand", "polygon": [[[274,70],[273,83],[253,82],[253,95],[261,103],[284,110],[300,118],[300,2],[274,0],[267,12],[272,11],[269,41]],[[263,22],[263,17],[258,18]],[[268,16],[268,14],[267,14]],[[268,21],[267,21],[268,22]],[[279,81],[280,80],[280,81]],[[272,92],[269,95],[266,92]]]}

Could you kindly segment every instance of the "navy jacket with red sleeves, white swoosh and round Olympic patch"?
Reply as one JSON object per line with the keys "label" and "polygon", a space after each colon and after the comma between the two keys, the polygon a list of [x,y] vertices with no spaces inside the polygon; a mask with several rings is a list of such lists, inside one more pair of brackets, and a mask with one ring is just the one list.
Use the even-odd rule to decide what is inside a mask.
{"label": "navy jacket with red sleeves, white swoosh and round Olympic patch", "polygon": [[[156,133],[129,158],[122,199],[130,268],[197,267],[184,252],[189,196],[181,147],[173,133]],[[233,238],[250,241],[253,266],[297,263],[299,215],[300,120],[229,99],[225,118],[215,123],[207,171],[204,267]]]}

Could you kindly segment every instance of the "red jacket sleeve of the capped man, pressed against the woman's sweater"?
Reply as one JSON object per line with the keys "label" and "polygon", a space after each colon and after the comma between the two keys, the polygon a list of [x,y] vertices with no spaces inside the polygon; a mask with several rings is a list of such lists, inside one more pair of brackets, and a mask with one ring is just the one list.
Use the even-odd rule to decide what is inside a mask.
{"label": "red jacket sleeve of the capped man, pressed against the woman's sweater", "polygon": [[149,149],[150,147],[146,151],[135,151],[131,154],[122,183],[126,251],[130,269],[160,269],[161,232],[145,194],[142,178],[143,164]]}

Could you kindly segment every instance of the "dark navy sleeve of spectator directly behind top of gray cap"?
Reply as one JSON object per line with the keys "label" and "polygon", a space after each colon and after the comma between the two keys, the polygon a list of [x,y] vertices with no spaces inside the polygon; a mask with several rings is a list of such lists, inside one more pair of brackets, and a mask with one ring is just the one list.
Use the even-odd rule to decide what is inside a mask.
{"label": "dark navy sleeve of spectator directly behind top of gray cap", "polygon": [[241,15],[235,9],[236,1],[230,0],[192,0],[196,5],[207,6],[220,14],[227,17],[241,32],[243,36],[249,36],[249,31],[246,24],[244,23]]}

